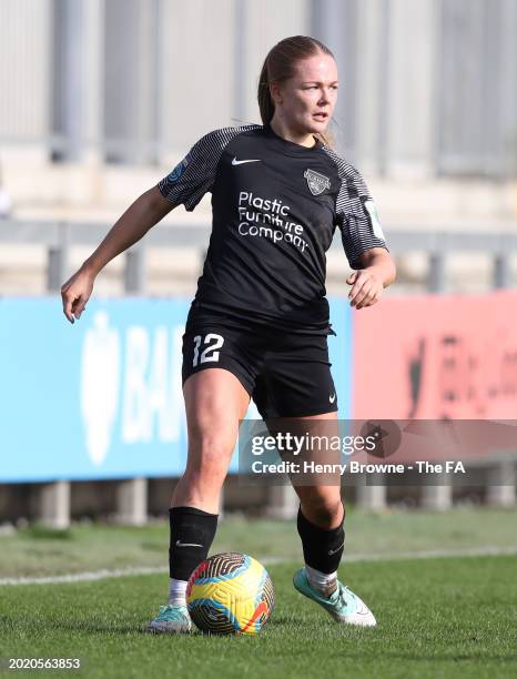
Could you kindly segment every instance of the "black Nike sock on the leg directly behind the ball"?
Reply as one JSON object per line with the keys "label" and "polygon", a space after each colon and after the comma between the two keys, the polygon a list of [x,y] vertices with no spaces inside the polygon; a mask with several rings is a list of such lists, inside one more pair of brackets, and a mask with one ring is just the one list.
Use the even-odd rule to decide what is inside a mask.
{"label": "black Nike sock on the leg directly behind the ball", "polygon": [[207,556],[217,528],[217,514],[195,507],[171,507],[169,521],[169,574],[176,580],[187,580]]}

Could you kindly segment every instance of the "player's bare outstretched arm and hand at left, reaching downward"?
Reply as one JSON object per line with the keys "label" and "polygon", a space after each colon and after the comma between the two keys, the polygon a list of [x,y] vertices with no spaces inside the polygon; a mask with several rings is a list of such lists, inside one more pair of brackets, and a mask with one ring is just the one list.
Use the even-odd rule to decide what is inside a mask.
{"label": "player's bare outstretched arm and hand at left, reaching downward", "polygon": [[70,323],[80,318],[100,271],[142,239],[172,209],[174,203],[153,186],[138,197],[115,222],[99,247],[61,287],[63,313]]}

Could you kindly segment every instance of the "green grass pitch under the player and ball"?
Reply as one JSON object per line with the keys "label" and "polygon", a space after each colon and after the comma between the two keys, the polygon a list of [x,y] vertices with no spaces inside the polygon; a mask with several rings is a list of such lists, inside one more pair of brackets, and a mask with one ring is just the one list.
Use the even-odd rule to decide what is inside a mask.
{"label": "green grass pitch under the player and ball", "polygon": [[[475,525],[476,514],[469,515],[470,525]],[[486,516],[483,515],[483,520],[488,520]],[[515,513],[500,513],[499,530],[505,520],[508,521],[508,529],[510,521],[515,526]],[[456,519],[454,514],[449,514],[448,521],[445,521],[445,517],[435,517],[438,524],[444,521],[444,525],[448,523],[450,526],[456,523],[456,531],[462,521],[467,526],[462,514],[456,514]],[[357,515],[355,523],[367,533],[369,520]],[[378,531],[379,520],[384,521],[383,531]],[[404,526],[410,533],[413,521],[433,521],[433,517],[372,517],[377,534],[383,534],[382,539],[386,539],[393,524],[396,528],[394,539]],[[241,545],[241,540],[230,539],[231,534],[239,534],[240,526],[237,523],[232,529],[229,521],[222,530],[220,539],[223,541],[219,547],[231,545],[243,550],[245,547],[258,556],[251,543],[245,545],[243,540]],[[72,546],[87,539],[84,536],[73,538],[73,530],[72,538],[69,538]],[[110,529],[100,529],[101,533],[103,530],[109,533]],[[261,530],[258,526],[258,536],[262,535]],[[275,530],[280,539],[282,530],[291,535],[293,526],[282,528],[280,525]],[[163,526],[113,531],[119,538],[122,534],[132,536],[124,548],[126,555],[131,554],[130,543],[134,549],[134,536],[138,536],[141,545],[149,547],[154,544],[154,538],[158,545],[166,535]],[[88,540],[97,535],[94,528],[89,528],[87,534]],[[81,529],[78,529],[78,535],[82,535]],[[485,544],[489,543],[490,537],[484,534]],[[436,536],[422,547],[443,545],[444,539],[447,541]],[[462,537],[458,535],[457,539],[460,541]],[[227,545],[225,540],[229,540]],[[353,541],[351,537],[352,545]],[[20,560],[14,559],[14,555],[26,543],[27,536],[0,538],[7,563],[14,560],[19,565]],[[67,539],[52,539],[51,535],[47,538],[40,535],[38,539],[32,537],[28,544],[36,559],[41,558],[45,550],[51,555],[52,551],[67,549]],[[10,551],[6,546],[10,546]],[[34,556],[34,551],[40,557]],[[104,560],[108,551],[107,547]],[[149,551],[154,555],[156,564],[163,565],[162,553],[158,549]],[[118,559],[122,553],[121,543],[116,546]],[[63,554],[60,554],[62,559]],[[94,560],[95,555],[91,554],[90,558]],[[121,563],[111,565],[121,566]],[[131,563],[126,561],[125,565]],[[320,607],[298,595],[291,584],[298,566],[300,559],[296,557],[268,566],[275,586],[276,609],[268,625],[256,637],[207,637],[199,632],[189,637],[154,637],[144,634],[142,630],[146,622],[158,612],[159,605],[164,602],[166,574],[90,582],[0,586],[0,656],[80,657],[82,669],[73,675],[101,679],[517,677],[517,556],[397,559],[393,558],[392,549],[392,558],[387,560],[347,564],[345,559],[339,575],[371,606],[378,622],[374,629],[336,625]],[[31,570],[36,570],[33,561]],[[18,568],[17,571],[21,575]],[[0,567],[0,575],[13,576],[14,571],[3,566],[3,569]],[[13,673],[2,671],[2,676]],[[23,673],[72,676],[67,670]]]}

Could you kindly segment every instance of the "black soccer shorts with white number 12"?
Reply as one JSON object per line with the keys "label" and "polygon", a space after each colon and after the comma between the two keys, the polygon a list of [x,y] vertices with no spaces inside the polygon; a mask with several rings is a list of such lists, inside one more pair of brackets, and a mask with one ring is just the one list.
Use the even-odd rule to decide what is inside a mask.
{"label": "black soccer shorts with white number 12", "polygon": [[219,314],[190,313],[183,334],[183,384],[210,367],[233,373],[265,420],[337,411],[327,334],[294,334]]}

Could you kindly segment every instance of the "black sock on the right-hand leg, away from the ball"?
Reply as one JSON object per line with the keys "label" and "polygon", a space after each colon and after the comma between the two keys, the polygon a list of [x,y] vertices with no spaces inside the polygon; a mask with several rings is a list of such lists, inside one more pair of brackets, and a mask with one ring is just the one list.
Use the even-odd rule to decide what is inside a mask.
{"label": "black sock on the right-hand leg, away from the ball", "polygon": [[305,564],[322,572],[335,572],[345,546],[343,523],[337,528],[320,528],[302,514],[298,507],[297,529],[302,538]]}

